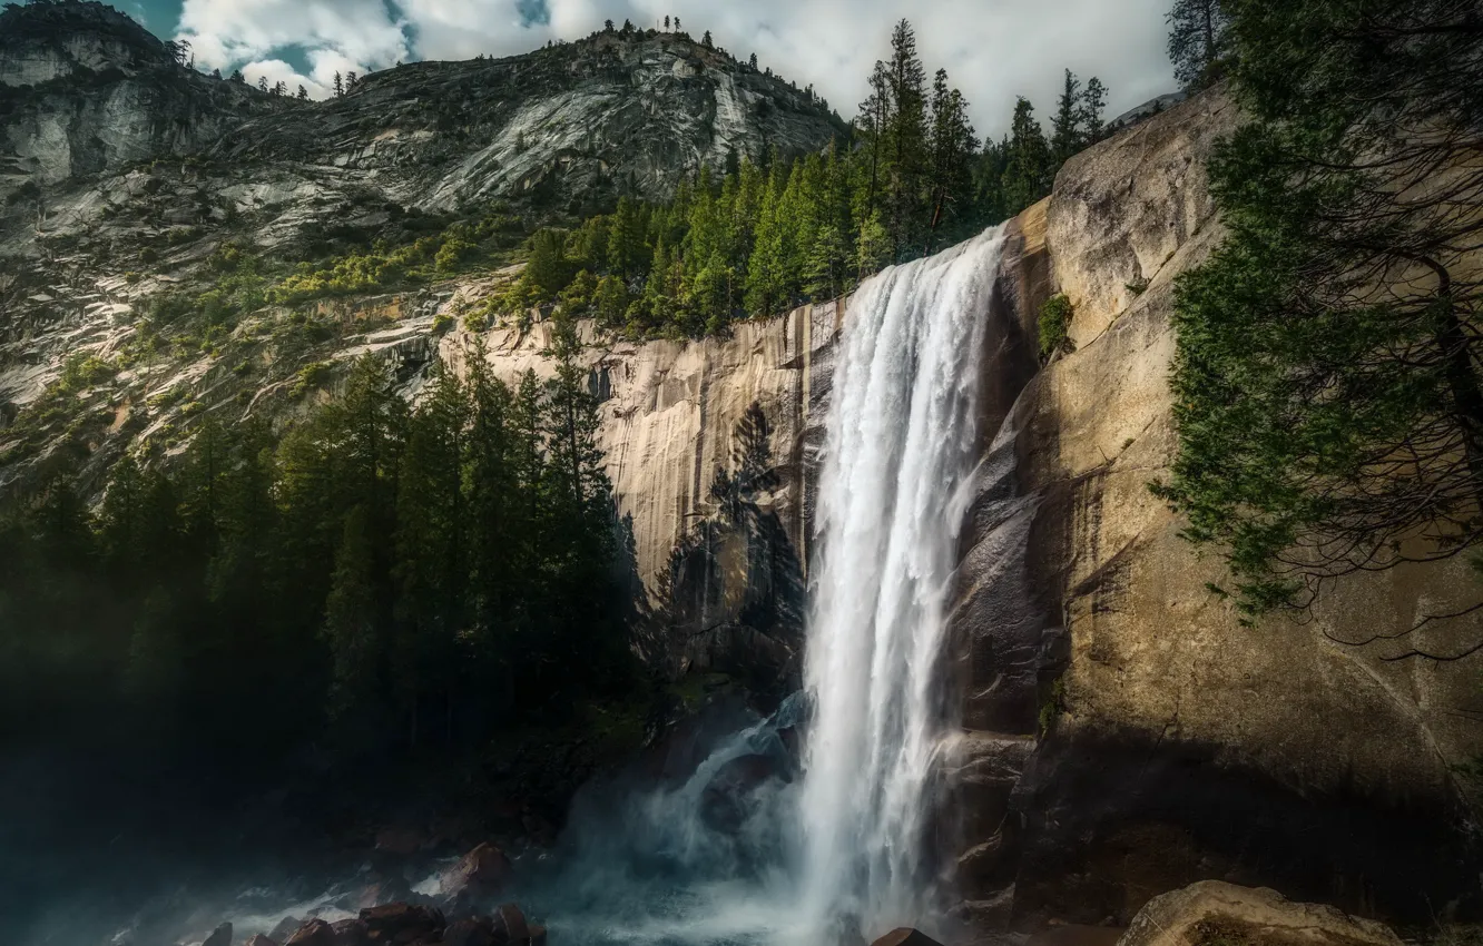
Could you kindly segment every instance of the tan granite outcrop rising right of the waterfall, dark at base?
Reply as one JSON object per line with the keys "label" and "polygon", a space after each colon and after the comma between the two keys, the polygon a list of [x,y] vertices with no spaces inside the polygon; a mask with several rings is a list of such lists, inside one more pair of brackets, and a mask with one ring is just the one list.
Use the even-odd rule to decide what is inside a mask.
{"label": "tan granite outcrop rising right of the waterfall, dark at base", "polygon": [[[1327,636],[1394,633],[1471,603],[1465,565],[1358,575],[1309,623],[1244,627],[1207,587],[1219,558],[1180,538],[1148,491],[1176,449],[1173,280],[1221,239],[1204,159],[1235,122],[1219,92],[1172,108],[1072,159],[1017,221],[1029,252],[1005,280],[1026,291],[1001,317],[1028,331],[1040,301],[1065,292],[1075,350],[1007,412],[988,466],[1008,472],[979,507],[998,520],[980,512],[964,558],[964,722],[1038,740],[1007,816],[961,842],[992,841],[1001,861],[977,875],[988,882],[962,876],[967,918],[1127,922],[1206,878],[1418,921],[1458,899],[1476,906],[1453,771],[1483,750],[1476,667],[1387,663],[1407,644]],[[1013,464],[995,460],[1005,452]],[[1016,509],[1032,510],[1013,513],[1028,525]],[[1446,651],[1477,641],[1483,620],[1425,633]],[[976,912],[1005,899],[1011,909]]]}

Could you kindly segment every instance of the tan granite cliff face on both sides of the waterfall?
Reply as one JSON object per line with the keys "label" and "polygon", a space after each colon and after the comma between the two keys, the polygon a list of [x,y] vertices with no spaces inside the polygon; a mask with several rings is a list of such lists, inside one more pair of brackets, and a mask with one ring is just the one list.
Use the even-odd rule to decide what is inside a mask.
{"label": "tan granite cliff face on both sides of the waterfall", "polygon": [[[948,746],[939,836],[954,912],[977,930],[1126,924],[1198,879],[1397,921],[1479,899],[1455,771],[1483,752],[1468,715],[1476,669],[1385,661],[1400,642],[1336,642],[1471,603],[1467,566],[1355,577],[1308,623],[1244,627],[1207,589],[1219,559],[1180,538],[1148,489],[1176,449],[1173,280],[1221,240],[1204,159],[1237,122],[1219,93],[1180,104],[1074,159],[1053,196],[1010,224],[945,655],[962,731]],[[1075,351],[1041,366],[1035,319],[1053,292],[1075,307]],[[727,439],[752,403],[773,423],[782,473],[765,504],[807,563],[845,308],[749,323],[727,341],[593,351],[593,383],[611,394],[610,469],[653,589],[687,574],[667,568],[685,560],[669,550],[715,516],[704,483],[733,463]],[[537,365],[538,334],[494,345],[492,362]],[[688,612],[687,633],[728,626],[761,635],[743,651],[796,646],[795,632],[747,623],[755,550],[716,559],[731,565],[690,575],[712,611]],[[1447,649],[1476,642],[1483,621],[1427,635]]]}

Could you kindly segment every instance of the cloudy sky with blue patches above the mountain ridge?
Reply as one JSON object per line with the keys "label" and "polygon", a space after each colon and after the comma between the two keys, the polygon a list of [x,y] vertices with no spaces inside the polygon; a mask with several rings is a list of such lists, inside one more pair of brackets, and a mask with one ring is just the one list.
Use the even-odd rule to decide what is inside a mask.
{"label": "cloudy sky with blue patches above the mountain ridge", "polygon": [[945,67],[979,133],[998,136],[1016,95],[1044,119],[1062,70],[1099,76],[1109,117],[1175,87],[1164,58],[1170,0],[113,0],[157,36],[188,39],[196,64],[265,76],[322,98],[337,71],[415,59],[504,56],[578,39],[604,19],[679,16],[737,58],[758,55],[813,85],[845,119],[865,96],[891,24],[916,30],[928,74]]}

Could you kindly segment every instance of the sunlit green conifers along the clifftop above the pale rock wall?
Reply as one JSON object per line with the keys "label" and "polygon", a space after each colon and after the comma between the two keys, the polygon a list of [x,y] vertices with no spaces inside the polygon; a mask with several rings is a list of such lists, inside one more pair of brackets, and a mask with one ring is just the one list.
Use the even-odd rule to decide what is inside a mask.
{"label": "sunlit green conifers along the clifftop above the pale rock wall", "polygon": [[733,157],[667,203],[623,199],[574,228],[541,230],[500,307],[561,302],[630,335],[700,335],[833,298],[1044,197],[1060,165],[1102,136],[1105,101],[1099,80],[1083,87],[1066,71],[1050,138],[1022,98],[1010,133],[980,150],[962,93],[945,70],[928,86],[902,21],[850,141],[792,160]]}

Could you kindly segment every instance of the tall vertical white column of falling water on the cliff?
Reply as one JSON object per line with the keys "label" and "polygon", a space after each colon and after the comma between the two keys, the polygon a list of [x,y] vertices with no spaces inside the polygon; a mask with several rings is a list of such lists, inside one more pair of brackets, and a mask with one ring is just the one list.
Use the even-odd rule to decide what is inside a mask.
{"label": "tall vertical white column of falling water on the cliff", "polygon": [[925,919],[921,854],[945,725],[939,649],[974,463],[976,360],[1004,243],[991,230],[850,301],[819,482],[799,799],[801,930]]}

